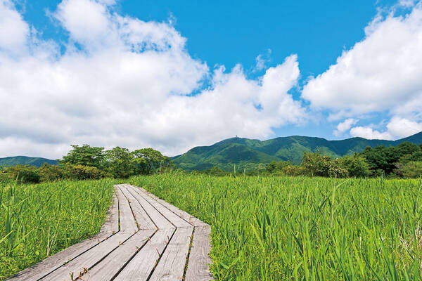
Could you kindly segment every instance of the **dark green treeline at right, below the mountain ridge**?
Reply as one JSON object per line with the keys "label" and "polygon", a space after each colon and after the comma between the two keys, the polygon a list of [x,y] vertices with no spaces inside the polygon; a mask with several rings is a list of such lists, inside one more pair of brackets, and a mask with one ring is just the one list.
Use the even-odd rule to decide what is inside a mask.
{"label": "dark green treeline at right, below the mountain ridge", "polygon": [[257,165],[250,171],[224,171],[214,166],[202,171],[203,174],[226,176],[233,174],[285,175],[285,176],[324,176],[324,177],[376,177],[417,178],[422,176],[422,143],[400,143],[393,147],[379,145],[367,147],[361,153],[334,158],[317,150],[305,152],[300,165],[288,161]]}

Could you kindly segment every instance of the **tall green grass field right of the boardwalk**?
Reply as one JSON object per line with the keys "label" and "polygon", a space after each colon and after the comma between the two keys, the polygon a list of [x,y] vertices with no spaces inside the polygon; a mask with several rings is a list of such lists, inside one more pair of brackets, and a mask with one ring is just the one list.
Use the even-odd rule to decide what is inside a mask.
{"label": "tall green grass field right of the boardwalk", "polygon": [[130,180],[212,226],[216,280],[422,280],[422,181]]}

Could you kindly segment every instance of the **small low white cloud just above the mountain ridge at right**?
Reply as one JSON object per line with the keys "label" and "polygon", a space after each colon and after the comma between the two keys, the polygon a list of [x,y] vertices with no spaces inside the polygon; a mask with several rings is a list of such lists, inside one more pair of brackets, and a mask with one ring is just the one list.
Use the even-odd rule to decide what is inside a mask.
{"label": "small low white cloud just above the mountain ridge at right", "polygon": [[369,139],[393,140],[414,135],[422,131],[422,122],[414,122],[402,117],[392,117],[387,124],[387,129],[383,132],[374,130],[371,126],[356,126],[350,129],[352,136],[359,136]]}

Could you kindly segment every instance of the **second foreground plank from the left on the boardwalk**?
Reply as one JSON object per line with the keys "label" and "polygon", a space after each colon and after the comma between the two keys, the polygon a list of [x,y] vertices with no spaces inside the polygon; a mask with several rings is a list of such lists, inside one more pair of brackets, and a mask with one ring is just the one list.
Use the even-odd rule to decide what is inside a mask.
{"label": "second foreground plank from the left on the boardwalk", "polygon": [[89,268],[92,268],[96,263],[101,261],[104,257],[110,254],[111,251],[115,250],[120,244],[124,243],[133,234],[119,232],[112,237],[104,240],[97,247],[84,252],[84,254],[77,256],[76,259],[66,263],[60,268],[54,270],[46,277],[42,278],[43,281],[70,281],[75,280],[76,277],[82,275]]}

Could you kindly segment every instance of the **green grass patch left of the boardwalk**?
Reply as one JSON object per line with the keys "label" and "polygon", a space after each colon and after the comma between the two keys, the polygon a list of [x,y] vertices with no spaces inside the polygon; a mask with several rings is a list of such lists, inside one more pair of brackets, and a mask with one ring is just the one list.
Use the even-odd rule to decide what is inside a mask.
{"label": "green grass patch left of the boardwalk", "polygon": [[0,280],[98,233],[113,182],[0,183]]}

